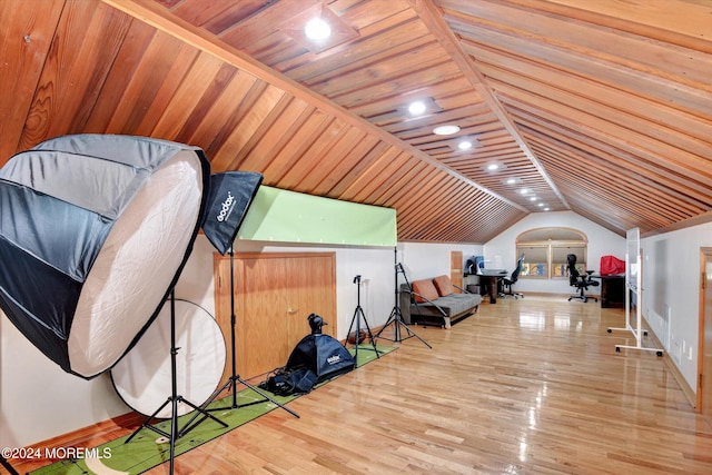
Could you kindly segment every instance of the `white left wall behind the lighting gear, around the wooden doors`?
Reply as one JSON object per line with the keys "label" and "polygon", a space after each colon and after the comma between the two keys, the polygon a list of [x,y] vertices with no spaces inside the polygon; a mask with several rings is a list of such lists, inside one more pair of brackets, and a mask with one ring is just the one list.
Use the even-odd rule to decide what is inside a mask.
{"label": "white left wall behind the lighting gear, around the wooden doors", "polygon": [[[356,309],[356,275],[362,275],[360,305],[369,326],[385,324],[395,305],[393,248],[239,241],[235,251],[335,251],[339,338],[345,338]],[[176,297],[194,301],[211,315],[214,253],[207,238],[199,235],[176,286]],[[323,317],[329,321],[334,316]],[[0,447],[36,444],[130,410],[116,394],[108,374],[85,380],[65,373],[0,315]]]}

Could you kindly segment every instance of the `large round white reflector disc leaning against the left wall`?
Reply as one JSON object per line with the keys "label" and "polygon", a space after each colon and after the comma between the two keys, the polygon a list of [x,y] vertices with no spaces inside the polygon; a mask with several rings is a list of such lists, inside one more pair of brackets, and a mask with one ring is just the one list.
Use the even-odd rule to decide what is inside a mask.
{"label": "large round white reflector disc leaning against the left wall", "polygon": [[[176,299],[176,382],[178,394],[200,406],[218,387],[225,369],[225,339],[210,314],[198,305]],[[136,412],[152,415],[171,396],[170,301],[136,346],[111,369],[117,393]],[[192,408],[178,404],[178,415]],[[171,416],[166,404],[156,417]]]}

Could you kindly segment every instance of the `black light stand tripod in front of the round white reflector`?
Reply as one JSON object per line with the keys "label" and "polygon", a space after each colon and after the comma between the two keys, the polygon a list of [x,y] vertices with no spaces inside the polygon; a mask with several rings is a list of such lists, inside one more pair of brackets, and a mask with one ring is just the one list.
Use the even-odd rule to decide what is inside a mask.
{"label": "black light stand tripod in front of the round white reflector", "polygon": [[[187,400],[186,398],[184,398],[182,396],[178,395],[178,382],[177,382],[177,377],[176,377],[176,373],[177,373],[177,368],[176,368],[176,355],[178,355],[178,349],[176,347],[176,290],[172,289],[170,291],[170,376],[171,376],[171,396],[164,403],[161,404],[161,406],[156,409],[156,412],[154,414],[151,414],[146,420],[144,420],[144,424],[141,424],[141,426],[139,428],[137,428],[134,434],[131,434],[129,436],[129,438],[127,438],[123,443],[128,444],[142,428],[148,428],[150,431],[154,431],[155,433],[161,435],[164,438],[168,439],[170,442],[170,474],[174,473],[174,459],[176,458],[176,441],[179,439],[180,437],[182,437],[188,431],[190,431],[192,427],[188,427],[189,424],[186,424],[186,426],[184,426],[184,431],[178,431],[178,403],[184,403],[187,404],[188,406],[192,407],[195,410],[197,410],[199,414],[205,415],[205,417],[202,419],[200,419],[200,422],[205,420],[206,418],[211,418],[212,420],[215,420],[216,423],[220,424],[222,427],[227,427],[227,424],[224,423],[222,420],[218,419],[217,417],[215,417],[211,414],[208,414],[204,408],[196,406],[195,404],[192,404],[191,402]],[[171,416],[170,416],[170,433],[167,433],[166,431],[162,431],[158,427],[151,426],[149,425],[151,420],[154,420],[156,418],[156,415],[158,413],[160,413],[164,407],[166,407],[168,404],[171,405]],[[195,417],[194,417],[195,418]]]}

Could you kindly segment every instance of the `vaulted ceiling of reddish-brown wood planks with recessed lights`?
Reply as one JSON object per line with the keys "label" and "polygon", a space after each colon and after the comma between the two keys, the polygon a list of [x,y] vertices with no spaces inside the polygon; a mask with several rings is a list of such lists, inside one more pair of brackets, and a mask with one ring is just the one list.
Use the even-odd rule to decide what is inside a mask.
{"label": "vaulted ceiling of reddish-brown wood planks with recessed lights", "polygon": [[396,208],[400,240],[712,219],[709,1],[3,0],[0,22],[0,165],[68,133],[176,140]]}

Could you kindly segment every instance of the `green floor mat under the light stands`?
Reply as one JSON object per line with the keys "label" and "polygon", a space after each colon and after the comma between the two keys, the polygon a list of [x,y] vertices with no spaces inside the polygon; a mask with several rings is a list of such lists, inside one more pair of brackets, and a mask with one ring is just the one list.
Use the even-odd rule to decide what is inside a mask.
{"label": "green floor mat under the light stands", "polygon": [[[360,345],[358,348],[358,359],[356,367],[360,367],[369,362],[376,359],[376,356],[385,355],[396,347],[377,345],[378,355],[374,352],[372,345]],[[355,348],[349,348],[352,354],[355,353]],[[333,380],[333,379],[329,379]],[[315,388],[328,384],[329,380],[319,383]],[[290,400],[296,399],[297,396],[271,396],[279,404],[286,405]],[[253,389],[246,388],[238,393],[237,403],[240,406],[237,409],[231,409],[233,395],[218,399],[208,406],[209,414],[214,415],[218,419],[227,424],[227,427],[222,427],[220,424],[212,419],[205,419],[199,424],[196,424],[192,429],[189,429],[182,437],[176,441],[175,454],[176,457],[180,454],[198,447],[206,442],[212,441],[216,437],[226,434],[243,424],[256,419],[271,410],[281,408],[265,400],[259,394]],[[250,404],[253,403],[253,404]],[[224,407],[225,410],[220,410]],[[196,419],[194,413],[186,414],[178,418],[178,431],[184,431],[191,419]],[[154,425],[160,431],[170,434],[170,420],[162,420]],[[38,468],[30,472],[31,475],[86,475],[86,474],[130,474],[137,475],[144,473],[157,465],[168,462],[170,458],[170,443],[158,443],[157,439],[160,434],[149,428],[142,428],[139,431],[131,441],[126,441],[131,434],[115,441],[102,444],[98,447],[87,448],[83,454],[79,454],[78,458],[65,459],[56,462],[51,465]]]}

